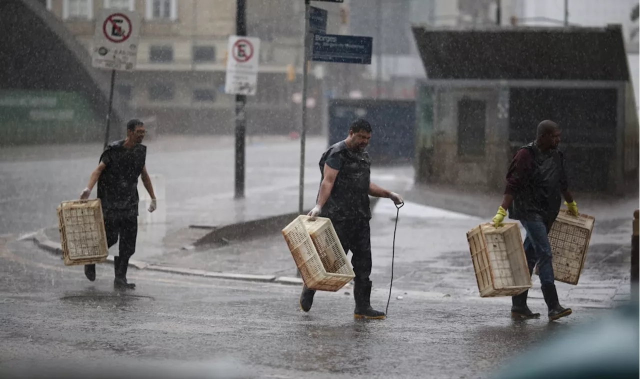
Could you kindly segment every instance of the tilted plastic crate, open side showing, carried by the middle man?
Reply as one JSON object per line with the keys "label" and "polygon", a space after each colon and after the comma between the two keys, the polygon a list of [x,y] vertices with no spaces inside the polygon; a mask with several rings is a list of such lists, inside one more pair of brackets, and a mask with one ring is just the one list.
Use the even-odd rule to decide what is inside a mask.
{"label": "tilted plastic crate, open side showing, carried by the middle man", "polygon": [[328,218],[310,221],[301,214],[282,229],[282,235],[308,288],[335,292],[355,278]]}

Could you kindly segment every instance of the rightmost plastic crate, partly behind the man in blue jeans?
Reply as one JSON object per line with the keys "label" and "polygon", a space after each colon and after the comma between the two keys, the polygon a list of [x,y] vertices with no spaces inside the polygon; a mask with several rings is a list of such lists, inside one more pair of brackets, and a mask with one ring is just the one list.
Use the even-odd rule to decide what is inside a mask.
{"label": "rightmost plastic crate, partly behind the man in blue jeans", "polygon": [[554,278],[558,282],[578,284],[594,223],[593,216],[573,216],[566,209],[560,210],[548,233],[553,253]]}

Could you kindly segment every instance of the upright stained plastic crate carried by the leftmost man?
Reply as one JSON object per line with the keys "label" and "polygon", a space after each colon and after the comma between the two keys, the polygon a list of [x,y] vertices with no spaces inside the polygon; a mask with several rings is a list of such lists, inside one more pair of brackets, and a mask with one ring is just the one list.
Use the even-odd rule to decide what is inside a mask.
{"label": "upright stained plastic crate carried by the leftmost man", "polygon": [[109,250],[100,199],[65,201],[56,211],[65,265],[104,262]]}

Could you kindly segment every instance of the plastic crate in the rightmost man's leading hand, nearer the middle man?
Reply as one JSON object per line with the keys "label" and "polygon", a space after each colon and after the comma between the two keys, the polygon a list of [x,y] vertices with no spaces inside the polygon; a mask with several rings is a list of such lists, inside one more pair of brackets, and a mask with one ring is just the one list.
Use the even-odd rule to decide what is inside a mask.
{"label": "plastic crate in the rightmost man's leading hand, nearer the middle man", "polygon": [[515,296],[531,288],[518,223],[483,223],[467,232],[480,296]]}

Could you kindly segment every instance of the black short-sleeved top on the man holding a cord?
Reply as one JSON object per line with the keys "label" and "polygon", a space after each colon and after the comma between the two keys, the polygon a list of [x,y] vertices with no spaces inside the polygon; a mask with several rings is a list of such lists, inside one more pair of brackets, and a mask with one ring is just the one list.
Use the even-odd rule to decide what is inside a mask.
{"label": "black short-sleeved top on the man holding a cord", "polygon": [[340,141],[326,150],[320,159],[320,172],[323,179],[325,163],[339,172],[320,216],[328,217],[335,222],[371,219],[369,153],[349,150],[346,143]]}

